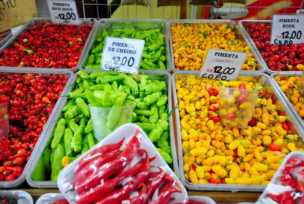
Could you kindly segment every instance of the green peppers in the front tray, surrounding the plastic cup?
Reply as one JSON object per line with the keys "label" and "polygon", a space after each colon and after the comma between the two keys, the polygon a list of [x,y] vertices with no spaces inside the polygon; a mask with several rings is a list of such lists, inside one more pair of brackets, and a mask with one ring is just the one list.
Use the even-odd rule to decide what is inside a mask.
{"label": "green peppers in the front tray, surrounding the plastic cup", "polygon": [[[94,107],[117,107],[133,104],[132,123],[139,125],[160,155],[172,163],[169,146],[168,88],[165,75],[125,74],[116,71],[78,71],[66,105],[47,142],[32,178],[57,181],[66,156],[72,162],[98,140],[95,138],[89,104]],[[109,126],[121,126],[118,113],[112,113]],[[43,168],[48,171],[43,171]],[[50,174],[51,172],[51,174]],[[50,175],[50,177],[49,177]]]}

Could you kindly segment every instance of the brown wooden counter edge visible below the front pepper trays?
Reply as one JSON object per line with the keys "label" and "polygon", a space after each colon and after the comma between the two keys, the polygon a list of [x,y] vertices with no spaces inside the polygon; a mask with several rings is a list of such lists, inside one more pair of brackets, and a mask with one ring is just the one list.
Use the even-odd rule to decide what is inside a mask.
{"label": "brown wooden counter edge visible below the front pepper trays", "polygon": [[[0,189],[1,190],[16,190]],[[34,204],[36,200],[45,193],[60,193],[56,188],[32,188],[25,181],[17,190],[28,192],[32,197]],[[262,192],[230,192],[230,191],[188,191],[188,195],[201,195],[212,198],[217,204],[237,204],[240,202],[256,202]]]}

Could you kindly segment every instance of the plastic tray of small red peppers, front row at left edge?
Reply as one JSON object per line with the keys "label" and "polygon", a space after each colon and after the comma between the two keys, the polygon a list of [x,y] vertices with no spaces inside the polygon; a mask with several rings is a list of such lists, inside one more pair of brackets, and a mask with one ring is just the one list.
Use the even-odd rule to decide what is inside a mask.
{"label": "plastic tray of small red peppers, front row at left edge", "polygon": [[9,134],[0,143],[0,187],[21,184],[36,152],[36,143],[56,112],[59,97],[73,72],[1,68],[0,102],[8,102]]}

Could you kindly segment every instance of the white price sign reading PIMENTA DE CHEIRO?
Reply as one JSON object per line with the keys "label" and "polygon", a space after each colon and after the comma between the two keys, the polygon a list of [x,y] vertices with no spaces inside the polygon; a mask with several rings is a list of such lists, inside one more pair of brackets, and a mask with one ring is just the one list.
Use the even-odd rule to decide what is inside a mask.
{"label": "white price sign reading PIMENTA DE CHEIRO", "polygon": [[138,73],[144,40],[105,37],[100,69]]}

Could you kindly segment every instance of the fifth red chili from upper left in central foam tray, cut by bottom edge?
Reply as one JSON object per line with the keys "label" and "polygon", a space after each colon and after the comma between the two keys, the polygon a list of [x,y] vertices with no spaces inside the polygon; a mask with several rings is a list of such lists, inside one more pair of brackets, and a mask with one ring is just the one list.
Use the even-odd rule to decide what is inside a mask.
{"label": "fifth red chili from upper left in central foam tray, cut by bottom edge", "polygon": [[125,186],[123,186],[123,188],[119,188],[115,191],[112,191],[111,193],[102,197],[94,204],[106,204],[106,203],[119,204],[123,199],[125,199],[129,195],[131,189],[132,189],[132,183],[131,181],[129,181],[128,183],[126,183]]}

